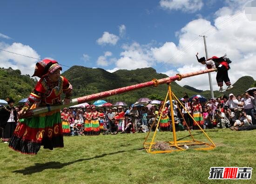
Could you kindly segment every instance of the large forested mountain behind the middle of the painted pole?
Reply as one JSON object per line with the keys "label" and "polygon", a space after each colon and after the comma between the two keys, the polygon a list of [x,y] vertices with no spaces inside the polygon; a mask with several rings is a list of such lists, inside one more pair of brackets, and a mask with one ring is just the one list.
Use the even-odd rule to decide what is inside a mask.
{"label": "large forested mountain behind the middle of the painted pole", "polygon": [[[148,82],[153,78],[161,79],[168,77],[165,74],[156,73],[155,69],[153,68],[117,70],[113,73],[109,73],[103,69],[91,69],[82,66],[73,66],[65,71],[62,75],[67,77],[72,83],[74,97],[90,95],[142,82]],[[178,97],[182,97],[184,95],[185,89],[176,82],[172,82],[171,87],[173,92]],[[157,87],[148,87],[120,95],[110,96],[104,100],[111,103],[123,101],[128,104],[136,102],[141,97],[164,100],[167,90],[167,85],[159,85]],[[186,89],[186,91],[189,95],[194,94],[194,92],[191,90]]]}

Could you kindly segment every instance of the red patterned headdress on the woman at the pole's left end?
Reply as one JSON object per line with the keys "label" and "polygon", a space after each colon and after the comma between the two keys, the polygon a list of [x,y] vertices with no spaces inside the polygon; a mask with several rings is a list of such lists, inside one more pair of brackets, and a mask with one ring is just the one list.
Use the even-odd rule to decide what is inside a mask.
{"label": "red patterned headdress on the woman at the pole's left end", "polygon": [[61,69],[61,66],[57,61],[50,59],[43,59],[35,64],[35,70],[33,76],[43,77],[48,73],[53,73],[57,69]]}

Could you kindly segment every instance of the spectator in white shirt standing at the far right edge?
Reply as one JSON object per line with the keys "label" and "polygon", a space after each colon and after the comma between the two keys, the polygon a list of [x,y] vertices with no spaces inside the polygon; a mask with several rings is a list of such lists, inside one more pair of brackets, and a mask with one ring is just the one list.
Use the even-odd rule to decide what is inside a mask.
{"label": "spectator in white shirt standing at the far right edge", "polygon": [[254,101],[254,97],[250,96],[248,92],[245,92],[244,97],[241,99],[244,111],[246,112],[247,115],[251,116],[252,123],[256,124],[255,118],[254,118],[253,101]]}

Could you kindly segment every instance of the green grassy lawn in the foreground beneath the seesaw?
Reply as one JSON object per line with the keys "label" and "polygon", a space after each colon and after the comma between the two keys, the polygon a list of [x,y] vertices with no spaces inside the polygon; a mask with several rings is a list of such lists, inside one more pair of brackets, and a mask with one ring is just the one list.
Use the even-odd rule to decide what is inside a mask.
{"label": "green grassy lawn in the foreground beneath the seesaw", "polygon": [[[0,143],[0,183],[256,183],[256,131],[211,129],[210,151],[187,150],[149,154],[143,149],[146,133],[64,137],[64,148],[40,149],[23,155]],[[177,139],[189,140],[188,132]],[[199,131],[196,140],[205,141]],[[150,134],[152,136],[152,134]],[[172,140],[171,132],[158,132],[155,140]],[[209,180],[209,168],[253,167],[250,180]]]}

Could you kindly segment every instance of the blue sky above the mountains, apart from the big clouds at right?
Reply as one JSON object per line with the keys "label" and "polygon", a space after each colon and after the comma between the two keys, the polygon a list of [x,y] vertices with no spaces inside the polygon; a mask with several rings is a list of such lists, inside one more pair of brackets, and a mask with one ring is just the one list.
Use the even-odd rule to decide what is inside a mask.
{"label": "blue sky above the mountains, apart from the big clouds at right", "polygon": [[[163,3],[169,4],[164,6]],[[140,68],[137,66],[131,68],[123,64],[131,60],[130,65],[134,65],[133,62],[141,62],[142,68],[151,66],[158,72],[172,74],[172,71],[175,73],[179,68],[184,68],[182,60],[186,58],[181,59],[181,64],[171,61],[176,57],[173,56],[177,53],[175,49],[182,52],[184,51],[182,48],[186,47],[182,38],[193,32],[193,29],[196,30],[191,40],[198,37],[199,41],[192,47],[199,44],[199,51],[203,55],[203,41],[199,38],[199,34],[208,29],[207,24],[214,27],[216,20],[222,18],[223,12],[229,13],[229,16],[234,15],[236,12],[232,5],[234,3],[240,5],[238,0],[1,1],[0,48],[11,49],[12,46],[14,47],[13,43],[20,43],[15,48],[22,47],[22,49],[11,49],[11,51],[22,52],[20,54],[32,57],[53,58],[67,66],[82,65],[105,70]],[[230,11],[222,10],[223,7],[229,8]],[[220,13],[216,14],[218,11]],[[202,21],[201,25],[193,27],[192,24],[196,20],[205,20],[205,22]],[[189,23],[192,28],[187,29],[186,25]],[[120,34],[121,26],[124,31],[122,34]],[[186,31],[182,32],[182,28]],[[104,33],[108,33],[105,35],[109,37],[107,41],[103,39]],[[99,42],[100,38],[102,42]],[[183,41],[191,43],[189,39]],[[173,47],[168,44],[173,55],[167,55],[166,58],[156,57],[157,53],[152,51],[164,49],[167,43],[175,45],[172,50]],[[24,51],[26,45],[33,51]],[[137,53],[140,49],[141,51]],[[190,50],[186,52],[189,53]],[[159,54],[162,55],[161,52]],[[184,53],[182,57],[186,54]],[[19,66],[19,62],[16,61],[19,58],[6,58],[6,55],[3,58],[7,59],[10,66]],[[33,62],[36,60],[29,62],[34,65]],[[195,59],[191,62],[197,64]],[[7,64],[1,64],[1,67],[5,66],[7,67]],[[63,67],[63,70],[67,69]],[[31,74],[33,71],[28,73]],[[202,85],[201,87],[204,88]]]}

